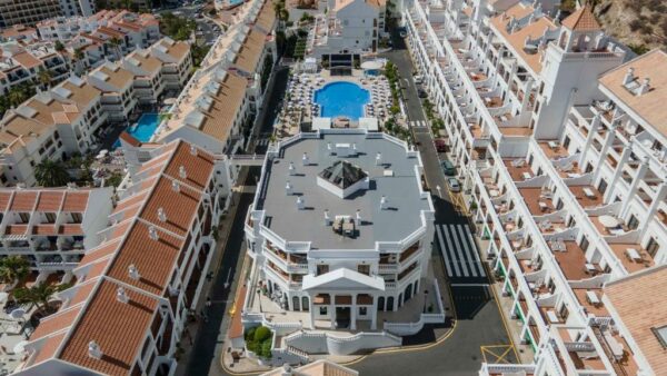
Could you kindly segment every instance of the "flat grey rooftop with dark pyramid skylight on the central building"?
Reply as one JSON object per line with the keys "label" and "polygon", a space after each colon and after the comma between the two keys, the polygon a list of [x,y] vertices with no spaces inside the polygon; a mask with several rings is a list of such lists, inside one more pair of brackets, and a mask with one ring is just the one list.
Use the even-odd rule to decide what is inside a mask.
{"label": "flat grey rooftop with dark pyramid skylight on the central building", "polygon": [[[323,133],[319,138],[299,138],[283,146],[279,156],[265,165],[265,178],[256,198],[257,210],[265,210],[263,225],[288,241],[311,241],[320,249],[374,249],[376,241],[400,241],[424,226],[422,211],[432,210],[428,195],[422,195],[421,161],[406,146],[387,136],[371,133]],[[328,144],[354,142],[356,152],[338,157]],[[306,154],[308,165],[303,166]],[[378,165],[378,156],[381,162]],[[323,167],[348,161],[370,178],[368,189],[359,189],[342,199],[317,182]],[[290,176],[293,162],[296,172]],[[339,164],[338,166],[341,166]],[[345,165],[342,165],[345,166]],[[289,180],[293,195],[286,194]],[[303,209],[297,207],[297,197]],[[386,209],[380,209],[386,197]],[[342,237],[325,226],[325,210],[336,216],[362,218],[356,237]]]}

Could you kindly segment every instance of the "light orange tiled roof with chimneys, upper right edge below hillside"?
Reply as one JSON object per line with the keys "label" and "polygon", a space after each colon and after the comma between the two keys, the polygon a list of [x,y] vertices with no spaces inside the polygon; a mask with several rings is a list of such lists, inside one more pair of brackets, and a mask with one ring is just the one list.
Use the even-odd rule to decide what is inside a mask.
{"label": "light orange tiled roof with chimneys, upper right edge below hillside", "polygon": [[[635,95],[626,89],[623,80],[628,68],[635,70],[635,85],[641,85],[645,78],[650,79],[650,90],[644,95]],[[667,53],[655,49],[639,56],[625,65],[608,71],[600,78],[603,87],[611,91],[618,100],[641,117],[657,131],[667,136]]]}

